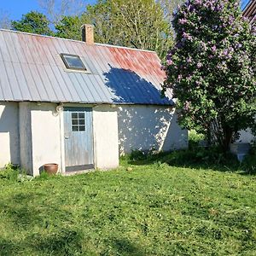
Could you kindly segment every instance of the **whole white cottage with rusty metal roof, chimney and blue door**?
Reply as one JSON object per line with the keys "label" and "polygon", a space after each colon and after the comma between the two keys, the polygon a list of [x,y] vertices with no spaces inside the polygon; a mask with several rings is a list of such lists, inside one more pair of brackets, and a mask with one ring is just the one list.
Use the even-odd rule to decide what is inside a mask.
{"label": "whole white cottage with rusty metal roof, chimney and blue door", "polygon": [[119,166],[132,149],[186,148],[153,51],[0,30],[0,167],[33,176]]}

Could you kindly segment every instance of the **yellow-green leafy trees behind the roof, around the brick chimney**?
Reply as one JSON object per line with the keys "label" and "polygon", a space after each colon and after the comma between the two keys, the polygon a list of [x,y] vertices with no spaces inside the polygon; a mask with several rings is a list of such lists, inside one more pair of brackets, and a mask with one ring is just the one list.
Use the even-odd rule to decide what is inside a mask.
{"label": "yellow-green leafy trees behind the roof, around the brick chimney", "polygon": [[96,42],[157,51],[166,55],[172,45],[171,23],[154,0],[98,0],[83,15],[63,17],[55,26],[57,36],[81,38],[79,27],[90,23]]}

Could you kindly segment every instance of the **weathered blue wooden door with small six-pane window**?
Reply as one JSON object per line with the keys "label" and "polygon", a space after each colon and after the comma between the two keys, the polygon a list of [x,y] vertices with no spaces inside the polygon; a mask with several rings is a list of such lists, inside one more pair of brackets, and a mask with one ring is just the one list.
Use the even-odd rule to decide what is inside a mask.
{"label": "weathered blue wooden door with small six-pane window", "polygon": [[66,172],[94,167],[91,108],[64,108]]}

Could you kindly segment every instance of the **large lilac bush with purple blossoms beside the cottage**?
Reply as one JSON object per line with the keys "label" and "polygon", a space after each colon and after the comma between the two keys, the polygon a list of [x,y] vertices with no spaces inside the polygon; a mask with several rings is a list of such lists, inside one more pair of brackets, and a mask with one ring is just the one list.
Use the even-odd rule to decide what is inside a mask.
{"label": "large lilac bush with purple blossoms beside the cottage", "polygon": [[224,151],[238,131],[255,125],[255,27],[238,0],[190,0],[177,8],[176,42],[166,56],[166,82],[180,125]]}

